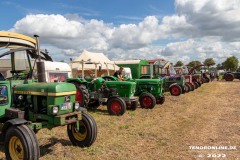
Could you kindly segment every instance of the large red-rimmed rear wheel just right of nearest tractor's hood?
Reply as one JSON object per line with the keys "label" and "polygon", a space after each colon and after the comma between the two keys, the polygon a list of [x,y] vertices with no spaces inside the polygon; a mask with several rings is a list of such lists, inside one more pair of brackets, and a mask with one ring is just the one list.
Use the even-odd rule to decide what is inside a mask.
{"label": "large red-rimmed rear wheel just right of nearest tractor's hood", "polygon": [[86,86],[75,84],[77,93],[76,93],[76,101],[79,102],[81,107],[86,107],[89,102],[89,94]]}

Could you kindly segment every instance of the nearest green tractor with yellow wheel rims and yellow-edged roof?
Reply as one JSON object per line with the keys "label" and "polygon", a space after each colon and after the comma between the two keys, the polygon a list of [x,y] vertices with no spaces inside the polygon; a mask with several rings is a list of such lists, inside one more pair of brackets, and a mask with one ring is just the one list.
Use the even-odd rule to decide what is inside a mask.
{"label": "nearest green tractor with yellow wheel rims and yellow-edged roof", "polygon": [[[12,66],[12,77],[6,79],[0,75],[0,140],[5,146],[6,159],[39,159],[35,133],[42,128],[67,126],[70,141],[79,147],[91,146],[97,137],[96,122],[75,101],[75,86],[44,81],[42,60],[49,57],[40,53],[39,43],[35,44],[30,37],[0,32],[1,47],[28,47],[0,55],[0,58],[10,57]],[[32,59],[35,59],[33,66]],[[33,78],[35,66],[36,79]]]}

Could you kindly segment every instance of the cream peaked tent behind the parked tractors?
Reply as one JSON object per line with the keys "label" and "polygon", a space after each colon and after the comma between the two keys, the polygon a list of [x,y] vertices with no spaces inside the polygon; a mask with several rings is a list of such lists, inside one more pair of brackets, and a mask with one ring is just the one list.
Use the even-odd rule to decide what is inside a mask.
{"label": "cream peaked tent behind the parked tractors", "polygon": [[73,60],[74,63],[71,63],[72,69],[82,70],[81,61],[92,63],[84,64],[84,70],[95,69],[96,63],[98,63],[97,66],[101,66],[103,70],[106,70],[107,67],[109,70],[119,69],[119,67],[115,65],[114,61],[110,61],[103,53],[94,53],[84,50],[79,57]]}

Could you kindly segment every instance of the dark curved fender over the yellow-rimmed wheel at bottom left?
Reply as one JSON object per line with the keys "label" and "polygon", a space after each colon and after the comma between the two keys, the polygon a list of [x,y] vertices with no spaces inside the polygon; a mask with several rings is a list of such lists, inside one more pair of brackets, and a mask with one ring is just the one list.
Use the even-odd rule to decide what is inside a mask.
{"label": "dark curved fender over the yellow-rimmed wheel at bottom left", "polygon": [[2,134],[0,136],[0,141],[4,140],[5,134],[11,126],[18,126],[18,125],[27,124],[27,123],[28,123],[28,121],[26,121],[25,119],[22,119],[22,118],[15,118],[15,119],[8,120],[3,125]]}

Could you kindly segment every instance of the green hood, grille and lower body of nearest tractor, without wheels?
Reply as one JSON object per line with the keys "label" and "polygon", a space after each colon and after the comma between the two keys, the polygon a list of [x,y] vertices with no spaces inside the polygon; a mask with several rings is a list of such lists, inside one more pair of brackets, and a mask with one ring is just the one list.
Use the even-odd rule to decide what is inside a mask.
{"label": "green hood, grille and lower body of nearest tractor, without wheels", "polygon": [[[10,107],[24,111],[24,119],[29,121],[29,127],[34,130],[42,127],[51,129],[55,126],[66,125],[70,122],[69,120],[81,120],[81,112],[74,110],[76,88],[73,84],[20,84],[18,81],[17,85],[16,83],[12,85],[10,81],[0,81],[0,86],[6,86],[8,89],[8,103],[0,104],[1,123],[6,120],[5,109]],[[11,89],[13,94],[11,94]],[[22,99],[19,100],[19,97]],[[58,107],[57,114],[53,114],[53,106]]]}

